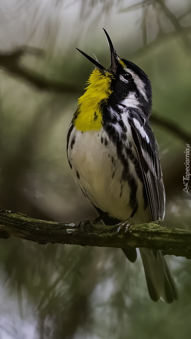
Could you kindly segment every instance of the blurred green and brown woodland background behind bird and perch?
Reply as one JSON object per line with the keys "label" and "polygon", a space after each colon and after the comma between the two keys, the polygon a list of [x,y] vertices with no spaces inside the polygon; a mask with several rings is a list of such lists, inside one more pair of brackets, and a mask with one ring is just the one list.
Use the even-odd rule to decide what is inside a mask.
{"label": "blurred green and brown woodland background behind bird and perch", "polygon": [[[102,27],[151,80],[163,224],[190,228],[190,0],[0,0],[0,206],[58,222],[95,216],[72,177],[66,133],[92,71],[75,47],[110,64]],[[17,58],[23,46],[44,55]],[[0,339],[190,339],[191,264],[167,257],[179,293],[169,305],[150,300],[140,257],[131,264],[116,248],[0,239]]]}

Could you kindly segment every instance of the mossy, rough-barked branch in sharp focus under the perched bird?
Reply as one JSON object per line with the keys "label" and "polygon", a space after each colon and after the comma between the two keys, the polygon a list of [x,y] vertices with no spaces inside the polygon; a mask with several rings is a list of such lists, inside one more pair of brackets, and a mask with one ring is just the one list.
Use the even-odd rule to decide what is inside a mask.
{"label": "mossy, rough-barked branch in sharp focus under the perched bird", "polygon": [[61,243],[99,247],[146,247],[163,254],[191,259],[191,230],[161,227],[158,223],[131,225],[114,236],[113,226],[87,225],[84,232],[78,225],[29,218],[21,213],[0,212],[0,238],[21,238],[40,244]]}

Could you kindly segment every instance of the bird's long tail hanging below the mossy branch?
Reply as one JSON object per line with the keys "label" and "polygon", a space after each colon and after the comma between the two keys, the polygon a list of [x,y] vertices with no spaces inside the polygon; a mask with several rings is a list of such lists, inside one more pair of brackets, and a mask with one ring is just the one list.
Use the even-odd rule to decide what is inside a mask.
{"label": "bird's long tail hanging below the mossy branch", "polygon": [[177,299],[177,291],[169,266],[161,251],[139,248],[145,270],[149,295],[153,301],[162,298],[171,303]]}

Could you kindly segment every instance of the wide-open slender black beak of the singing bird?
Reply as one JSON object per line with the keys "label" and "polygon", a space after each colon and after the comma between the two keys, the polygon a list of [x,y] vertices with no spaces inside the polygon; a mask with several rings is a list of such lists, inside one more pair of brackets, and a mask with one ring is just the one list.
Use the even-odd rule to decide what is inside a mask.
{"label": "wide-open slender black beak of the singing bird", "polygon": [[[107,37],[107,40],[108,40],[108,44],[109,44],[109,47],[110,47],[110,54],[111,54],[111,66],[108,68],[108,71],[111,72],[111,73],[115,73],[115,68],[117,66],[117,53],[115,51],[115,48],[113,47],[113,44],[111,42],[111,39],[108,35],[108,33],[106,32],[106,30],[103,28],[103,31],[105,32],[106,34],[106,37]],[[99,69],[99,71],[102,73],[102,74],[105,74],[105,71],[107,71],[107,69],[102,65],[100,64],[100,62],[98,60],[95,60],[93,59],[92,57],[90,57],[88,54],[86,54],[85,52],[81,51],[80,49],[76,48],[81,54],[84,55],[84,57],[86,57],[88,60],[90,60],[95,66],[97,69]]]}

